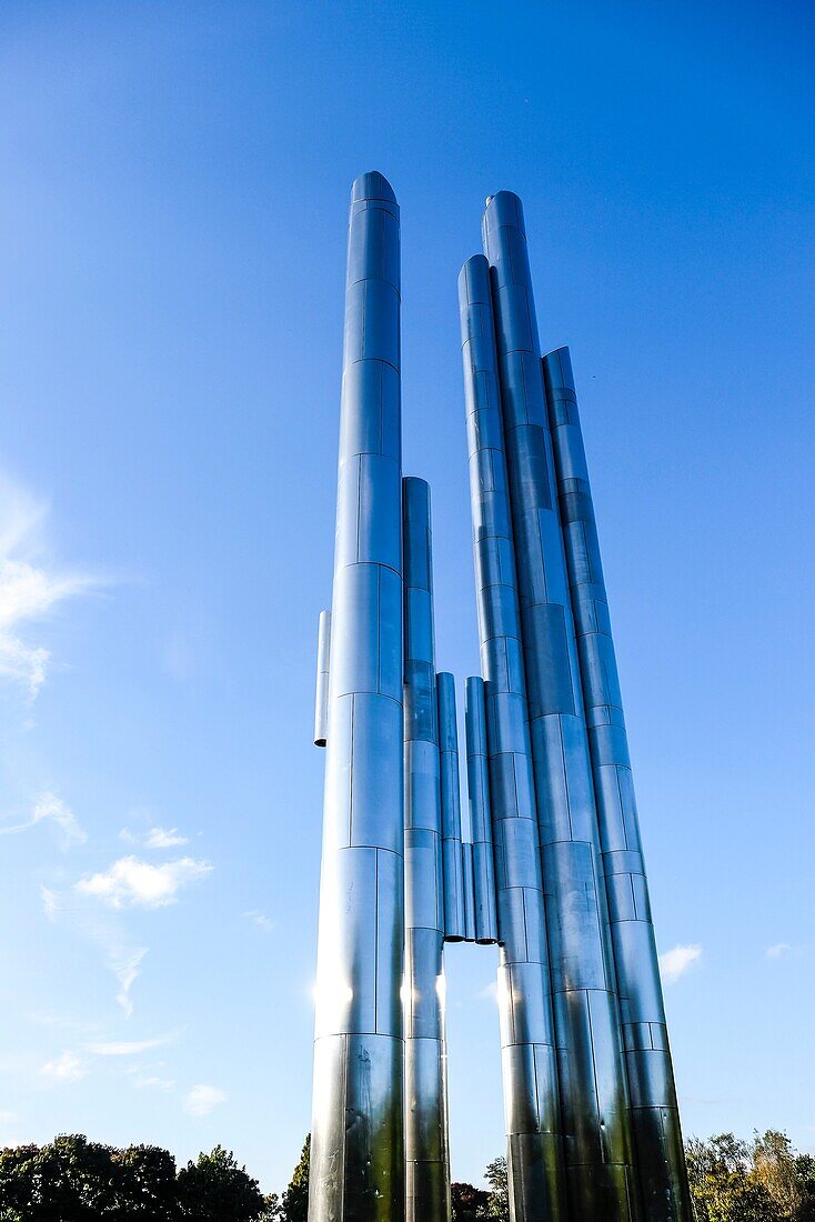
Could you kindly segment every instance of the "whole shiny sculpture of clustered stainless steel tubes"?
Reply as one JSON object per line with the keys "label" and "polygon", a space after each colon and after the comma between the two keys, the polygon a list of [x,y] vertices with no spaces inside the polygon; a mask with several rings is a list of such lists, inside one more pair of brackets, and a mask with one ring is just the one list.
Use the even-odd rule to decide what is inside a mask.
{"label": "whole shiny sculpture of clustered stainless steel tubes", "polygon": [[436,672],[430,492],[401,475],[400,237],[353,186],[310,1222],[446,1222],[444,943],[499,943],[513,1222],[692,1222],[568,349],[539,356],[521,200],[458,281],[481,676]]}

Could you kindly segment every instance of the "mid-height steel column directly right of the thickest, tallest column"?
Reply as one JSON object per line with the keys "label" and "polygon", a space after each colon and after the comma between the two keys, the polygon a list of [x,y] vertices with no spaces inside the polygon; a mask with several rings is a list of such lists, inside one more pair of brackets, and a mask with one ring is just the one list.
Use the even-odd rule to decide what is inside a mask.
{"label": "mid-height steel column directly right of the thickest, tallest column", "polygon": [[407,1222],[450,1218],[445,909],[430,489],[402,481],[404,540],[404,1158]]}

